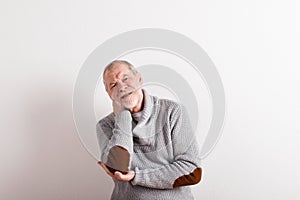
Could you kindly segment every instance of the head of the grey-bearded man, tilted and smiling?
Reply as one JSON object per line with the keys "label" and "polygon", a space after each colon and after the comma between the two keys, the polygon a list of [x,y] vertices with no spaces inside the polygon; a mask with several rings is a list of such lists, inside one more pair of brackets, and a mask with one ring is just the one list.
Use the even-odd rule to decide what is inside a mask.
{"label": "head of the grey-bearded man, tilted and smiling", "polygon": [[132,109],[141,104],[142,76],[129,62],[115,60],[107,65],[103,72],[103,83],[111,100],[125,108]]}

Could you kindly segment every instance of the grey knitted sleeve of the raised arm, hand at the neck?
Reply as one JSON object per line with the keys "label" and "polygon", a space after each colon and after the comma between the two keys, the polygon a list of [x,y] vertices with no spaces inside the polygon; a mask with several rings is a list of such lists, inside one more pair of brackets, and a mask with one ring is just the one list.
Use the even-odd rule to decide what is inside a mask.
{"label": "grey knitted sleeve of the raised arm, hand at the neck", "polygon": [[124,110],[115,116],[115,124],[109,125],[104,118],[96,126],[100,147],[100,160],[110,171],[127,172],[130,169],[130,154],[133,152],[132,117]]}

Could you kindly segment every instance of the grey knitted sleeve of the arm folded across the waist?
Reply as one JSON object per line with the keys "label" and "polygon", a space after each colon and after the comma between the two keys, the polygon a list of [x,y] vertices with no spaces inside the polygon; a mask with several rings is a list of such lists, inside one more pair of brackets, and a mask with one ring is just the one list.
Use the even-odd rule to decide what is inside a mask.
{"label": "grey knitted sleeve of the arm folded across the waist", "polygon": [[173,162],[159,168],[135,168],[133,185],[171,189],[200,182],[202,168],[199,147],[187,112],[183,106],[179,106],[171,117]]}

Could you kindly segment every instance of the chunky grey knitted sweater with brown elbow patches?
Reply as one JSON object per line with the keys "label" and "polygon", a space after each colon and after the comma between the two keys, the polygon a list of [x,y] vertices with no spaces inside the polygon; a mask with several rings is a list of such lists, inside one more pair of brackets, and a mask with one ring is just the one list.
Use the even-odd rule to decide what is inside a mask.
{"label": "chunky grey knitted sweater with brown elbow patches", "polygon": [[111,199],[194,199],[187,185],[200,181],[202,169],[186,109],[142,91],[142,111],[111,113],[97,123],[100,160],[119,171],[118,162],[127,162],[135,171],[131,182],[114,180]]}

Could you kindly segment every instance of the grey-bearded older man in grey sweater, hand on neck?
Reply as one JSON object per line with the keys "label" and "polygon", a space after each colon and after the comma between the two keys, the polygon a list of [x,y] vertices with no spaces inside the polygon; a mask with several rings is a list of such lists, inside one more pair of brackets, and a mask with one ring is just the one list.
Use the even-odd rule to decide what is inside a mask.
{"label": "grey-bearded older man in grey sweater, hand on neck", "polygon": [[151,96],[141,74],[115,60],[103,72],[113,112],[97,123],[99,164],[113,178],[111,199],[193,199],[200,155],[184,107]]}

